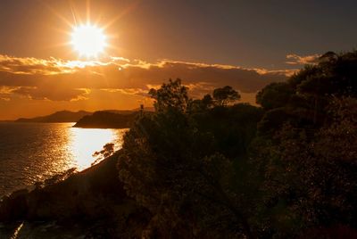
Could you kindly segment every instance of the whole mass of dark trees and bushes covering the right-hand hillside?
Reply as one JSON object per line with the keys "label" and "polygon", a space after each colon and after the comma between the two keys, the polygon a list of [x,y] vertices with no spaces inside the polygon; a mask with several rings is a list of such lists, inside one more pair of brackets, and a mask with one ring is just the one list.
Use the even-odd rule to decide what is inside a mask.
{"label": "whole mass of dark trees and bushes covering the right-hand hillside", "polygon": [[180,79],[125,136],[119,177],[153,238],[357,236],[357,52],[264,87],[193,100]]}

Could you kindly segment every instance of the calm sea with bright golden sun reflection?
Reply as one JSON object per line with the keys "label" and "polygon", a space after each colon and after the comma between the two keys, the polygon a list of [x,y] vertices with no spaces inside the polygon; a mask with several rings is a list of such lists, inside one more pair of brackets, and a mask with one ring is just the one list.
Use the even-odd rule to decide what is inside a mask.
{"label": "calm sea with bright golden sun reflection", "polygon": [[67,169],[90,167],[93,153],[127,129],[71,128],[73,123],[0,123],[0,197]]}

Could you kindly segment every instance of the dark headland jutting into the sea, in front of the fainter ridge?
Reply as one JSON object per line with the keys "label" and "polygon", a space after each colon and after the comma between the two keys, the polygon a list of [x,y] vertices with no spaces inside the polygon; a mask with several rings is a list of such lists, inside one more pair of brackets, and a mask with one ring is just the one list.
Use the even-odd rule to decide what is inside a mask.
{"label": "dark headland jutting into the sea, in front of the fainter ridge", "polygon": [[76,128],[130,128],[138,111],[95,111],[73,126]]}

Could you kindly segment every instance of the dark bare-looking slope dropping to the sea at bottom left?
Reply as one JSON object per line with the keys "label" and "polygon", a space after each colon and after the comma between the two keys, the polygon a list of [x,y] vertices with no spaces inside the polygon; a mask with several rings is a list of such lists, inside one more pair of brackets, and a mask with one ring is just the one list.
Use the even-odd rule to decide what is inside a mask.
{"label": "dark bare-looking slope dropping to the sea at bottom left", "polygon": [[5,197],[0,203],[0,238],[12,235],[20,224],[16,222],[24,222],[19,238],[141,235],[150,215],[125,194],[117,177],[117,158],[115,153],[61,182]]}

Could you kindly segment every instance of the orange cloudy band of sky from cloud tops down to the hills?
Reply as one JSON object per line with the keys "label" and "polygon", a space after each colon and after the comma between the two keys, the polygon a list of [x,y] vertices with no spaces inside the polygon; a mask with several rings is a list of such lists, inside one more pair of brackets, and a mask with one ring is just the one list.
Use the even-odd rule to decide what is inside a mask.
{"label": "orange cloudy band of sky from cloud tops down to the hills", "polygon": [[17,119],[54,111],[98,111],[151,106],[151,87],[169,78],[182,78],[192,97],[232,86],[242,102],[272,81],[286,79],[290,70],[245,69],[195,62],[143,62],[112,57],[101,61],[62,61],[0,55],[0,119]]}

